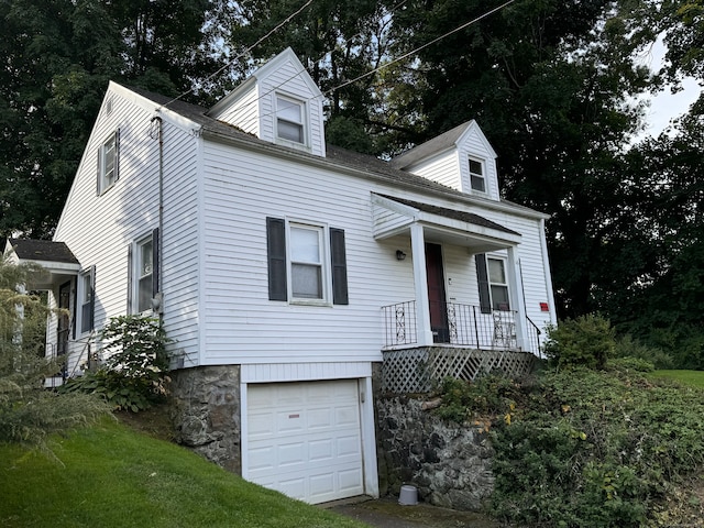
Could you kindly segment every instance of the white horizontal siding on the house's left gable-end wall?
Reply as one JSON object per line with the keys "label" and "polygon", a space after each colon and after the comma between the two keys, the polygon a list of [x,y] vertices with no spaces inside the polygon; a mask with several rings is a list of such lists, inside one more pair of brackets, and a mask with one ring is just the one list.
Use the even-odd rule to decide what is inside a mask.
{"label": "white horizontal siding on the house's left gable-end wall", "polygon": [[[95,326],[127,312],[128,246],[158,224],[158,140],[153,139],[153,103],[135,103],[134,94],[111,85],[112,111],[103,108],[86,147],[54,240],[66,242],[79,262],[99,263]],[[130,123],[129,127],[125,123]],[[164,120],[164,249],[168,265],[162,284],[164,324],[186,364],[197,361],[198,142],[189,129]],[[100,142],[121,128],[120,180],[96,196],[96,155]],[[169,309],[170,308],[170,309]],[[85,343],[72,344],[76,354]]]}

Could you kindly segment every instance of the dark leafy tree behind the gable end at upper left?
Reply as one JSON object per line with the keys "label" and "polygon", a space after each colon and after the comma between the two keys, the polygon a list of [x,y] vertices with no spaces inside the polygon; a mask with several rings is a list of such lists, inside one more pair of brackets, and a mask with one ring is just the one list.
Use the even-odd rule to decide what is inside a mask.
{"label": "dark leafy tree behind the gable end at upper left", "polygon": [[208,97],[223,3],[0,2],[0,234],[51,237],[109,80]]}

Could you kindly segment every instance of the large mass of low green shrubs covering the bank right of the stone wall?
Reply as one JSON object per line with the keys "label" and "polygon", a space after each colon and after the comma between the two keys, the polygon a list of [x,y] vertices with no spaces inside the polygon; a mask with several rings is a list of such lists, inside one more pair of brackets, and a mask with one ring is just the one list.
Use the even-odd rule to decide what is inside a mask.
{"label": "large mass of low green shrubs covering the bank right of the stone wall", "polygon": [[492,429],[492,508],[516,526],[668,526],[658,510],[704,463],[703,391],[578,367],[543,372],[517,400]]}

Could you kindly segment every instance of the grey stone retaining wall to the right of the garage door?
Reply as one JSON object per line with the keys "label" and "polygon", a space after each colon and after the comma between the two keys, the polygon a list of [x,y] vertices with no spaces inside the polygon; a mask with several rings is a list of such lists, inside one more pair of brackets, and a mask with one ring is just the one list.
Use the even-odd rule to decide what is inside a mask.
{"label": "grey stone retaining wall to the right of the garage door", "polygon": [[382,495],[413,484],[430,504],[481,509],[494,488],[488,436],[441,420],[424,409],[424,399],[377,394],[375,402]]}

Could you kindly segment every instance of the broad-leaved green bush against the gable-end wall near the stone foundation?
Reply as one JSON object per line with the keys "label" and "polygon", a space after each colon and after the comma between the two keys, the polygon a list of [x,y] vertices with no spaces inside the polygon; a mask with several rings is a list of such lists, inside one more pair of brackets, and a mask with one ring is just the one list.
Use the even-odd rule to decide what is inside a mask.
{"label": "broad-leaved green bush against the gable-end wall near the stone foundation", "polygon": [[110,319],[100,337],[107,358],[96,372],[69,381],[64,391],[101,395],[117,410],[138,413],[167,395],[170,341],[158,319],[121,316]]}

